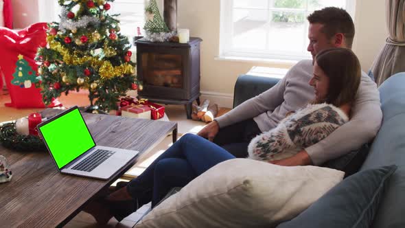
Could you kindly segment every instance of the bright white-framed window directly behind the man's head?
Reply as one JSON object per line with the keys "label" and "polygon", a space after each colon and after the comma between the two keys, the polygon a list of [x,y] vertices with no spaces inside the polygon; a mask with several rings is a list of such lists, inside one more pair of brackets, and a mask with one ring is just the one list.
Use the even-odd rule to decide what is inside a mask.
{"label": "bright white-framed window directly behind the man's head", "polygon": [[326,6],[354,0],[222,0],[220,57],[301,60],[310,58],[306,17]]}

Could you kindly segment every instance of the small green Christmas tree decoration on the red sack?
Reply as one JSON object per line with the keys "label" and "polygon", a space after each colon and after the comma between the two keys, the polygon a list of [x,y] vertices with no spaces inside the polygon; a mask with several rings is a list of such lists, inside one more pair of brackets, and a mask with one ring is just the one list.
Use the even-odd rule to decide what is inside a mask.
{"label": "small green Christmas tree decoration on the red sack", "polygon": [[14,76],[14,79],[11,80],[11,84],[21,88],[30,88],[32,83],[39,82],[35,72],[32,71],[32,68],[21,54],[19,55],[19,60],[16,62],[16,71],[12,76]]}

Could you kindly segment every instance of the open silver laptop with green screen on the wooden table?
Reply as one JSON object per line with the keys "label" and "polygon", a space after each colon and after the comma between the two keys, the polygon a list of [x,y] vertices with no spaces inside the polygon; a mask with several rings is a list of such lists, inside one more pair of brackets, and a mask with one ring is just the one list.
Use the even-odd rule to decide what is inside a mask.
{"label": "open silver laptop with green screen on the wooden table", "polygon": [[59,172],[95,179],[109,179],[138,151],[97,146],[78,106],[38,124],[42,137]]}

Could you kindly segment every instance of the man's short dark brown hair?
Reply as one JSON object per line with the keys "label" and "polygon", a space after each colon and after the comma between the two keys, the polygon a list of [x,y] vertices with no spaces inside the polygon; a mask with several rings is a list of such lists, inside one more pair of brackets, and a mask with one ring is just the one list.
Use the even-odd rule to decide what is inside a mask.
{"label": "man's short dark brown hair", "polygon": [[321,32],[332,38],[335,34],[345,35],[346,45],[351,49],[354,38],[354,23],[349,13],[342,8],[327,7],[322,10],[315,10],[307,17],[308,21],[323,25]]}

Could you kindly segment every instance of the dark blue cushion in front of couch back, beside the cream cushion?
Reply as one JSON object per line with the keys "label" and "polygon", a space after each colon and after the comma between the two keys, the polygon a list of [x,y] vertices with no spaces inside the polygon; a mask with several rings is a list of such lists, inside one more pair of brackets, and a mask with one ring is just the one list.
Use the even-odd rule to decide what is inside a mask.
{"label": "dark blue cushion in front of couch back, beside the cream cushion", "polygon": [[277,228],[370,227],[384,185],[396,169],[394,165],[384,166],[353,174]]}

